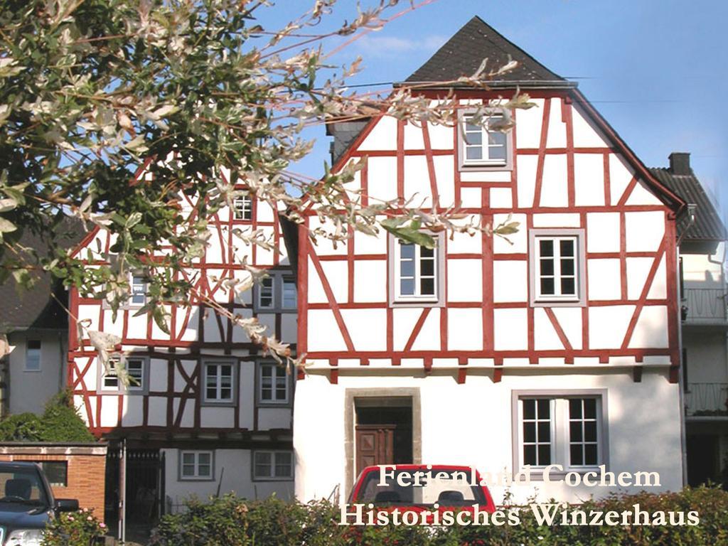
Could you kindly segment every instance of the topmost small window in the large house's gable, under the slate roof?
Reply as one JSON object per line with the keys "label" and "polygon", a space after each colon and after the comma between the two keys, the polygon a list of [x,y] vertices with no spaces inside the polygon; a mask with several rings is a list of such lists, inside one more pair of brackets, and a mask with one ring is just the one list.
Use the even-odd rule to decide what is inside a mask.
{"label": "topmost small window in the large house's gable, under the slate roof", "polygon": [[477,119],[473,111],[459,115],[458,152],[460,168],[465,170],[510,169],[510,132],[497,130],[505,122],[502,113]]}

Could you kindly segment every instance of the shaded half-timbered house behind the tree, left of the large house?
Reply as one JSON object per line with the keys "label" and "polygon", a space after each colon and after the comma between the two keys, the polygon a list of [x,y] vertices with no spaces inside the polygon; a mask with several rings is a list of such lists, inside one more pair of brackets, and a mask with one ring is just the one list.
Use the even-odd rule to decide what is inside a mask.
{"label": "shaded half-timbered house behind the tree, left of the large house", "polygon": [[[143,174],[141,174],[143,175]],[[182,213],[191,202],[183,204]],[[125,443],[121,465],[110,464],[107,493],[119,497],[119,466],[126,467],[127,515],[149,519],[175,510],[195,494],[235,491],[248,498],[293,494],[291,413],[293,381],[261,355],[240,327],[221,317],[202,296],[243,317],[256,316],[284,342],[296,342],[296,282],[290,269],[277,211],[246,196],[209,218],[204,256],[187,272],[194,288],[191,307],[170,306],[170,334],[148,314],[145,272],[130,276],[130,300],[114,320],[103,301],[71,292],[68,381],[90,430],[115,445]],[[234,231],[261,230],[280,253],[249,247]],[[84,259],[104,260],[112,244],[103,229],[90,233],[78,250]],[[173,251],[173,249],[169,249]],[[247,274],[248,264],[269,276],[237,300],[225,281]],[[90,264],[92,266],[92,264]],[[100,365],[84,331],[114,333],[121,341],[132,381],[124,387]]]}

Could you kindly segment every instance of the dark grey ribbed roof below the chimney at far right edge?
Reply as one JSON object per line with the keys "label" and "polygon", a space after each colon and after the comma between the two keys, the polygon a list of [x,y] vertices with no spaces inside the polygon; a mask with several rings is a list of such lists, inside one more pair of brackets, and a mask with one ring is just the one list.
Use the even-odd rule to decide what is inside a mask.
{"label": "dark grey ribbed roof below the chimney at far right edge", "polygon": [[678,194],[682,199],[697,205],[695,222],[685,233],[687,240],[724,241],[728,239],[726,228],[713,205],[711,198],[705,193],[703,186],[692,169],[688,175],[676,175],[669,168],[656,167],[650,171],[660,183]]}

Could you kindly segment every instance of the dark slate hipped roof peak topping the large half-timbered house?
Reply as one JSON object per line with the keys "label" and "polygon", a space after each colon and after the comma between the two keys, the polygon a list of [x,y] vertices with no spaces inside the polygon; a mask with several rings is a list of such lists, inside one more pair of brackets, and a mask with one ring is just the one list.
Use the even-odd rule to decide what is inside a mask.
{"label": "dark slate hipped roof peak topping the large half-timbered house", "polygon": [[488,68],[505,66],[509,60],[518,62],[515,69],[498,77],[500,82],[566,83],[565,79],[543,66],[478,16],[472,17],[406,82],[449,82],[461,76],[472,76],[485,58],[488,58],[486,71]]}

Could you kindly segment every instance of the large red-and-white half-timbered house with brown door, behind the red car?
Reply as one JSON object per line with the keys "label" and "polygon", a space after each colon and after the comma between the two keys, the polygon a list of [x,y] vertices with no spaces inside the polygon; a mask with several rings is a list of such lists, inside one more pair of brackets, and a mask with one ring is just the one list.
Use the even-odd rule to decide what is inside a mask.
{"label": "large red-and-white half-timbered house with brown door, behind the red car", "polygon": [[[451,85],[509,57],[518,68],[491,90]],[[417,194],[495,225],[513,213],[521,229],[510,243],[440,234],[434,251],[384,233],[333,248],[312,245],[309,212],[297,240],[298,351],[311,363],[296,387],[298,498],[345,499],[363,466],[397,462],[509,475],[604,465],[659,472],[652,491],[681,488],[684,201],[574,82],[478,17],[406,82],[432,100],[454,91],[458,127],[376,116],[352,138],[357,127],[333,124],[334,170],[365,163],[352,183],[365,202]],[[472,106],[517,87],[537,108],[514,111],[515,130],[468,123]],[[511,488],[513,501],[534,489],[564,501],[617,490],[534,483]]]}

